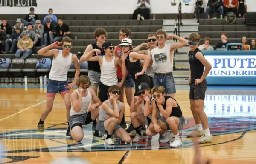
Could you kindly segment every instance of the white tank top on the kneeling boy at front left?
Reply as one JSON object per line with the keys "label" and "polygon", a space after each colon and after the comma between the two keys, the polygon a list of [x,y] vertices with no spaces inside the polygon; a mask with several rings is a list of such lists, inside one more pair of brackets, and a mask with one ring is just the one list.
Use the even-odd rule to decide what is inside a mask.
{"label": "white tank top on the kneeling boy at front left", "polygon": [[[77,93],[78,96],[79,96],[79,91],[78,91],[78,89],[75,90],[75,91],[76,91],[76,93]],[[70,116],[76,115],[76,114],[84,114],[84,113],[87,112],[88,107],[89,107],[89,105],[90,105],[90,102],[91,102],[91,100],[92,100],[92,95],[90,94],[90,91],[87,90],[87,92],[88,92],[87,96],[86,96],[86,97],[82,97],[82,107],[81,107],[81,110],[80,110],[79,112],[76,112],[76,111],[74,110],[73,104],[72,104],[72,102],[71,102]]]}

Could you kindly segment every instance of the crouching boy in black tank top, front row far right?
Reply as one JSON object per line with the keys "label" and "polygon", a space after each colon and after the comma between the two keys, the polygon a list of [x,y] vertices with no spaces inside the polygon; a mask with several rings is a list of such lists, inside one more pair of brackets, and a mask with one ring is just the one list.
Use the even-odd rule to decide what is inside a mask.
{"label": "crouching boy in black tank top, front row far right", "polygon": [[[182,142],[178,130],[184,127],[185,118],[180,106],[175,99],[166,96],[163,86],[152,88],[152,93],[155,100],[152,102],[152,122],[146,130],[146,134],[148,136],[154,136],[157,133],[163,134],[163,139],[160,139],[161,143],[169,142],[174,136],[174,141],[170,143],[170,147],[181,146]],[[159,111],[161,119],[157,119],[157,111]]]}

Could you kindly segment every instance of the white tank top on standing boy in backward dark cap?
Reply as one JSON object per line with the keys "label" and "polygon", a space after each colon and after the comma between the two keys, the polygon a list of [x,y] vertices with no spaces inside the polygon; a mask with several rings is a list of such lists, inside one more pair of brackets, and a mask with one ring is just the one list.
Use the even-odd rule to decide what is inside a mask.
{"label": "white tank top on standing boy in backward dark cap", "polygon": [[115,58],[111,62],[106,62],[105,56],[102,56],[102,67],[100,68],[100,82],[107,86],[117,85],[117,68],[115,66]]}

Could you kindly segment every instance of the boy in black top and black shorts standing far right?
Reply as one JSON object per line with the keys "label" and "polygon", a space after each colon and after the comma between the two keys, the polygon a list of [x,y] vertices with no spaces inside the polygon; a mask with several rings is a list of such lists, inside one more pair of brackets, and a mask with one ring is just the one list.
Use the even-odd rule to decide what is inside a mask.
{"label": "boy in black top and black shorts standing far right", "polygon": [[[204,58],[204,54],[198,49],[200,35],[192,33],[189,35],[189,99],[190,109],[196,123],[196,130],[188,134],[187,137],[198,136],[199,143],[212,143],[212,136],[209,130],[209,123],[206,114],[204,113],[204,97],[207,88],[205,77],[211,70],[212,66]],[[205,71],[204,71],[205,67]],[[202,129],[202,125],[204,130]]]}

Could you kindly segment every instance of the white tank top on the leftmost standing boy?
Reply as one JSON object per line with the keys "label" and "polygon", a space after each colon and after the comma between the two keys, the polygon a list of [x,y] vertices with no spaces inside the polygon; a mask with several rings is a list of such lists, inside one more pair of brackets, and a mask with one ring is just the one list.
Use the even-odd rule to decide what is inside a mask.
{"label": "white tank top on the leftmost standing boy", "polygon": [[52,68],[49,74],[49,79],[56,81],[66,81],[67,71],[72,64],[72,54],[70,53],[67,58],[62,57],[62,50],[59,50],[58,56],[52,59]]}

